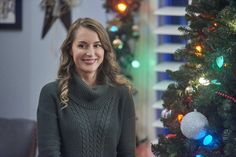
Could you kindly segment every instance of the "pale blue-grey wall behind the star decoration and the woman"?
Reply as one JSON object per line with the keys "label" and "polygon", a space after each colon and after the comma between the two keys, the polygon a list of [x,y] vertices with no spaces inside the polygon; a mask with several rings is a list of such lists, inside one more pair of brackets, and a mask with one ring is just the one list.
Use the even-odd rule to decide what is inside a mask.
{"label": "pale blue-grey wall behind the star decoration and the woman", "polygon": [[[41,39],[40,1],[23,1],[23,29],[0,31],[0,117],[36,119],[39,92],[56,78],[59,48],[66,31],[58,19]],[[103,1],[77,0],[72,21],[92,17],[105,25]]]}

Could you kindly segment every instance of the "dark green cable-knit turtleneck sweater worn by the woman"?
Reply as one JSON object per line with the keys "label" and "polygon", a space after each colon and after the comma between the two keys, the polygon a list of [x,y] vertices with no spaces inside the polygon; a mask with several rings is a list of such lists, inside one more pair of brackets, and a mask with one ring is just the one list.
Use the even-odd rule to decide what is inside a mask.
{"label": "dark green cable-knit turtleneck sweater worn by the woman", "polygon": [[42,88],[37,111],[39,157],[134,157],[135,113],[124,86],[88,87],[76,74],[61,109],[58,81]]}

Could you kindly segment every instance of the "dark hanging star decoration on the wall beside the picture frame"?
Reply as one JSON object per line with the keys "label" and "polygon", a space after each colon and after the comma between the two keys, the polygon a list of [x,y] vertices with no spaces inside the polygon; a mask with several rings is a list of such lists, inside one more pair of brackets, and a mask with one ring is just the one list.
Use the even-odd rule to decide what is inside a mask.
{"label": "dark hanging star decoration on the wall beside the picture frame", "polygon": [[43,0],[41,5],[45,8],[43,31],[41,36],[42,39],[45,37],[57,18],[61,20],[66,30],[69,30],[71,25],[71,6],[66,0]]}

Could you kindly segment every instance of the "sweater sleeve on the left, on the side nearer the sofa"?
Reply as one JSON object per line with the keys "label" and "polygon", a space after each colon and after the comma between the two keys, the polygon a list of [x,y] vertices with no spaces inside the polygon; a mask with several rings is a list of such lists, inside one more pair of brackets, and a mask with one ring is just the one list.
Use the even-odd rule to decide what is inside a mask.
{"label": "sweater sleeve on the left, on the side nearer the sofa", "polygon": [[37,109],[38,157],[61,157],[56,88],[44,86]]}

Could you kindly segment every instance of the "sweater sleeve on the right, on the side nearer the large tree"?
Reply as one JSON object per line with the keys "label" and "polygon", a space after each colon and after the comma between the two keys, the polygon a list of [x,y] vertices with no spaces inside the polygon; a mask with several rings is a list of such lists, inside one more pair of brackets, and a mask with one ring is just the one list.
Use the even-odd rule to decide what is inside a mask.
{"label": "sweater sleeve on the right, on the side nearer the large tree", "polygon": [[122,94],[124,101],[123,124],[117,147],[117,157],[135,157],[135,109],[130,92]]}

